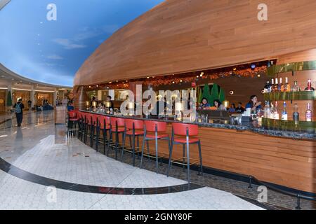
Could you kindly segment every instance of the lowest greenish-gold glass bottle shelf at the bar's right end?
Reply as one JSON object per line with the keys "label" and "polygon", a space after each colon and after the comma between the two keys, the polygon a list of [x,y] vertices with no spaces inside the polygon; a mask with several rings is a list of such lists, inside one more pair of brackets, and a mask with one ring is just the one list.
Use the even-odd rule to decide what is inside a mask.
{"label": "lowest greenish-gold glass bottle shelf at the bar's right end", "polygon": [[310,134],[316,133],[315,121],[298,121],[298,123],[295,123],[293,120],[274,120],[269,118],[262,118],[262,126],[267,128],[268,130],[306,132]]}

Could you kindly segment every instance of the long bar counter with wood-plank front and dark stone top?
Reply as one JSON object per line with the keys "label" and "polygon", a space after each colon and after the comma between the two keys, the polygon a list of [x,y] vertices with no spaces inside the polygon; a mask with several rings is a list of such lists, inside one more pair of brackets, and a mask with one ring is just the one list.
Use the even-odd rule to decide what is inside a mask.
{"label": "long bar counter with wood-plank front and dark stone top", "polygon": [[[165,121],[169,123],[167,132],[170,135],[171,123],[182,122],[174,118],[158,119],[157,116],[105,116]],[[199,125],[204,167],[254,176],[260,181],[316,193],[315,132],[287,132],[268,130],[256,123],[249,126],[229,123],[216,120],[209,120],[209,123],[193,123]],[[150,148],[152,147],[154,145],[150,143]],[[169,153],[166,141],[159,141],[159,151]],[[182,157],[180,146],[176,146],[173,152],[173,158]],[[190,146],[190,157],[198,158],[196,146]]]}

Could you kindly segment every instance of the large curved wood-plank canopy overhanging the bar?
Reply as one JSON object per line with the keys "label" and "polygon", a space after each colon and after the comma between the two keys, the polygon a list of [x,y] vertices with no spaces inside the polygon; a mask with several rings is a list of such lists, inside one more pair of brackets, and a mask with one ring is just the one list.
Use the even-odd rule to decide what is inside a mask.
{"label": "large curved wood-plank canopy overhanging the bar", "polygon": [[167,0],[86,59],[74,85],[213,69],[316,48],[316,1]]}

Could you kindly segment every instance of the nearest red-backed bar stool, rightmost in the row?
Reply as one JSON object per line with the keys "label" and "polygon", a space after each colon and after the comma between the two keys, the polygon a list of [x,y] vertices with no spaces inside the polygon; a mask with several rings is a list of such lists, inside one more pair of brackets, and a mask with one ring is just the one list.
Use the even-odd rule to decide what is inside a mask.
{"label": "nearest red-backed bar stool, rightmost in the row", "polygon": [[[172,124],[172,137],[171,137],[167,176],[169,176],[169,169],[171,167],[171,163],[184,165],[185,159],[187,160],[186,165],[187,165],[187,182],[188,183],[190,183],[190,165],[199,163],[199,171],[201,171],[203,175],[201,141],[197,138],[197,135],[199,134],[198,130],[199,130],[199,127],[197,125],[190,125],[190,124],[184,124],[184,123]],[[177,137],[175,137],[175,135]],[[173,144],[183,145],[183,158],[172,160]],[[190,159],[190,147],[189,147],[190,144],[197,144],[199,147],[199,160],[195,160],[195,162],[192,162],[192,163],[190,163],[190,160],[193,160],[193,159]],[[186,157],[185,157],[185,148],[186,148],[186,154],[187,154]],[[182,163],[179,162],[180,160],[182,160]]]}

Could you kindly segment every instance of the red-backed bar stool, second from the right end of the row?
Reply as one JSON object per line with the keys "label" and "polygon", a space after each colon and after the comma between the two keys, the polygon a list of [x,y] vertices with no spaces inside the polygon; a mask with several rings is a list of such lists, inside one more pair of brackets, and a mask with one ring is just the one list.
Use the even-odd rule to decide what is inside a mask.
{"label": "red-backed bar stool, second from the right end of the row", "polygon": [[[155,151],[155,156],[153,158],[156,158],[156,172],[158,173],[158,159],[163,158],[164,156],[167,155],[166,153],[160,153],[160,154],[162,154],[162,156],[158,156],[158,140],[167,140],[168,146],[170,146],[169,134],[166,134],[166,123],[160,122],[160,121],[146,120],[144,132],[145,132],[145,134],[144,134],[144,138],[143,138],[143,147],[142,147],[142,156],[140,159],[140,168],[143,167],[145,141],[154,140],[156,151]],[[170,147],[168,147],[168,148],[170,148]],[[149,152],[145,156],[152,157]]]}

